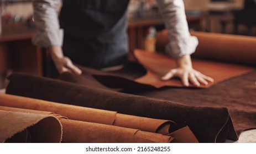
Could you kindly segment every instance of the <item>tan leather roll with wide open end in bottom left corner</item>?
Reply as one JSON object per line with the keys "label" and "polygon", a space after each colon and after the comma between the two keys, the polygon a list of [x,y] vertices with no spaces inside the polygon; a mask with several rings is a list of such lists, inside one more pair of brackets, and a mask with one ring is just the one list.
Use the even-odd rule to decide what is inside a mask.
{"label": "tan leather roll with wide open end in bottom left corner", "polygon": [[1,107],[0,117],[0,142],[61,141],[61,124],[54,116],[10,111]]}

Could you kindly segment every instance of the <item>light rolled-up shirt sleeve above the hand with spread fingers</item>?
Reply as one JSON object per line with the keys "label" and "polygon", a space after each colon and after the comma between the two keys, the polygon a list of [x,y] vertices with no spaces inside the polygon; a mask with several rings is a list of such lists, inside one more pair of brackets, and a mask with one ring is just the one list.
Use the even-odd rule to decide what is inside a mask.
{"label": "light rolled-up shirt sleeve above the hand with spread fingers", "polygon": [[184,2],[182,0],[158,0],[157,2],[170,38],[165,52],[173,58],[194,53],[198,40],[197,37],[190,35]]}

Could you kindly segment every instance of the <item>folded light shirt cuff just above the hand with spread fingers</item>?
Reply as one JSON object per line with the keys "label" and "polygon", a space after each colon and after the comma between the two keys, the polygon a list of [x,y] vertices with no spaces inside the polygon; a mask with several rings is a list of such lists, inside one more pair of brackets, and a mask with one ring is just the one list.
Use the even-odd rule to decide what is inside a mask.
{"label": "folded light shirt cuff just above the hand with spread fingers", "polygon": [[182,40],[171,41],[166,45],[165,52],[173,58],[179,58],[196,51],[198,40],[196,36],[190,36]]}

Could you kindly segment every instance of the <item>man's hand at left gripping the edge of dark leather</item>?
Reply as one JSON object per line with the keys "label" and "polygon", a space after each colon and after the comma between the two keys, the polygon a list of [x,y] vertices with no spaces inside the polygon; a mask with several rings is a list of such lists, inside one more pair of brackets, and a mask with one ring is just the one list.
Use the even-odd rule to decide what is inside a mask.
{"label": "man's hand at left gripping the edge of dark leather", "polygon": [[57,68],[60,74],[64,72],[71,72],[71,73],[80,75],[82,73],[82,71],[72,63],[70,58],[65,57],[63,55],[61,47],[59,46],[50,47],[50,54],[51,54],[51,58],[54,61],[55,67]]}

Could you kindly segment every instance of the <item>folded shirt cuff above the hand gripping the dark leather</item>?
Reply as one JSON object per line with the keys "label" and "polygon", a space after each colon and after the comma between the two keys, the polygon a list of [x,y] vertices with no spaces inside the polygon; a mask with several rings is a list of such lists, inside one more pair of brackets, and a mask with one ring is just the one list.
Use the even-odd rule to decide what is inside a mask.
{"label": "folded shirt cuff above the hand gripping the dark leather", "polygon": [[50,46],[62,46],[64,32],[62,29],[39,32],[32,38],[35,46],[48,48]]}

